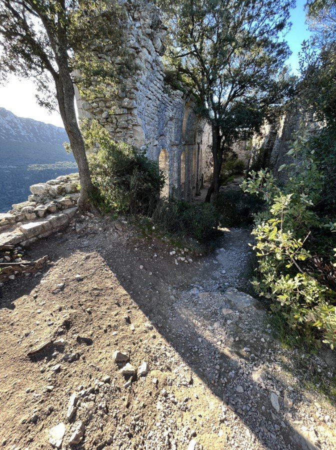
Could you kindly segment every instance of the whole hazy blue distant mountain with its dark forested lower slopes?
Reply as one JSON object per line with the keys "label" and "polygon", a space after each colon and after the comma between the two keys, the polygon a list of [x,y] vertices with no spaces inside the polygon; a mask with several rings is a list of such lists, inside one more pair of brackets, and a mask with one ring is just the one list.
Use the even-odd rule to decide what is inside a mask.
{"label": "whole hazy blue distant mountain with its dark forested lower slopes", "polygon": [[27,199],[29,186],[77,172],[64,128],[0,108],[0,212]]}

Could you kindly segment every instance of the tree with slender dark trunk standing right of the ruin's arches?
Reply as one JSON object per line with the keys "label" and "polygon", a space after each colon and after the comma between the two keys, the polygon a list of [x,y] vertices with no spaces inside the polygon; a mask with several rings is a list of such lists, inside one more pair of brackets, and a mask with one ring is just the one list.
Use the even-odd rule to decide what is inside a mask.
{"label": "tree with slender dark trunk standing right of the ruin's arches", "polygon": [[166,62],[211,126],[213,181],[233,141],[257,131],[288,94],[283,36],[291,0],[158,0],[168,25]]}

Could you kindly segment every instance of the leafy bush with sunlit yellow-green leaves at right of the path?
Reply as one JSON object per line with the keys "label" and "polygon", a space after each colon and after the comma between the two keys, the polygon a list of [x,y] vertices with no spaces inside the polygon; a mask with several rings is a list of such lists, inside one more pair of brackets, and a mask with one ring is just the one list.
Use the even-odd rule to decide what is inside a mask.
{"label": "leafy bush with sunlit yellow-green leaves at right of the path", "polygon": [[[271,309],[280,312],[306,341],[318,346],[322,339],[333,348],[336,225],[317,207],[325,177],[311,144],[304,133],[296,135],[288,152],[293,156],[292,166],[279,168],[289,174],[282,187],[271,173],[259,170],[250,173],[242,189],[267,203],[252,231],[260,272],[253,280],[256,291],[269,298]],[[325,265],[333,270],[331,282],[321,269]]]}

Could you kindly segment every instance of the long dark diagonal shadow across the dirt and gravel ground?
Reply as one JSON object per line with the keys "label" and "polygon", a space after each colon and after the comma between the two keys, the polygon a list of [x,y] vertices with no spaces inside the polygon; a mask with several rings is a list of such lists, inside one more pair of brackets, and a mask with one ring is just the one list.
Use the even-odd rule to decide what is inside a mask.
{"label": "long dark diagonal shadow across the dirt and gravel ground", "polygon": [[[89,241],[89,244],[84,242]],[[38,243],[32,244],[30,251],[36,255],[48,253],[51,260],[56,262],[59,258],[69,258],[74,252],[83,255],[91,252],[98,254],[104,264],[104,269],[110,271],[111,276],[115,276],[120,286],[129,295],[131,300],[148,317],[158,333],[169,342],[169,344],[182,357],[185,364],[203,380],[211,389],[213,394],[224,402],[229,409],[236,414],[236,420],[240,420],[255,438],[255,446],[258,442],[263,448],[287,448],[294,450],[301,448],[310,450],[317,448],[306,434],[295,429],[290,423],[280,399],[280,409],[276,411],[270,402],[270,390],[262,386],[263,382],[256,382],[250,375],[246,374],[244,368],[250,362],[249,357],[242,351],[241,345],[233,343],[229,351],[221,348],[206,338],[204,330],[208,325],[212,325],[209,317],[204,314],[201,326],[196,326],[192,317],[192,302],[183,303],[183,310],[174,308],[172,290],[180,292],[190,287],[192,280],[202,273],[201,264],[194,264],[180,267],[171,264],[167,265],[167,257],[163,256],[159,261],[151,255],[156,247],[148,250],[148,241],[139,239],[137,242],[123,241],[115,238],[107,245],[102,245],[101,235],[81,235],[72,234],[70,239],[51,236],[42,239]],[[135,248],[138,248],[135,250]],[[148,253],[145,258],[144,254]],[[80,254],[79,253],[79,254]],[[139,272],[139,263],[144,260]],[[202,259],[199,262],[203,262]],[[197,268],[197,271],[195,270]],[[103,267],[97,267],[101,270]],[[52,270],[52,266],[50,267]],[[135,276],[136,275],[136,276]],[[172,284],[172,280],[174,283]],[[12,287],[6,287],[3,295],[3,302],[0,308],[14,307],[15,300],[22,295],[31,295],[32,291],[40,282],[40,277],[30,277],[20,280]],[[103,285],[99,287],[104,287]],[[18,306],[17,306],[18,307]],[[189,309],[189,314],[188,314]],[[179,329],[174,329],[171,314],[174,314],[179,323]],[[187,332],[183,332],[187,330]],[[223,330],[225,332],[225,330]],[[195,351],[195,343],[202,342],[202,352]],[[257,350],[256,350],[257,351]],[[267,364],[267,354],[260,356],[260,360]],[[221,383],[219,378],[214,378],[215,373],[210,367],[210,362],[219,366],[220,378],[226,378],[226,382]],[[212,364],[213,365],[213,364]],[[266,374],[267,376],[267,374]],[[273,388],[281,385],[281,380],[274,377]],[[237,391],[237,386],[243,385],[243,392]]]}

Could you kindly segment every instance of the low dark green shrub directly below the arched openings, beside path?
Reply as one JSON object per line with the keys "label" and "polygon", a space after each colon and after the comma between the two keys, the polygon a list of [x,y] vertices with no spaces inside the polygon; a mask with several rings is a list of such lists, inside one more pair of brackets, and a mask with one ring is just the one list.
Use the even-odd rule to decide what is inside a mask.
{"label": "low dark green shrub directly below the arched openings, beside path", "polygon": [[213,235],[218,216],[210,203],[195,205],[170,197],[158,202],[152,222],[164,233],[206,240]]}

